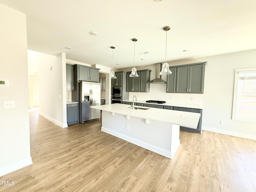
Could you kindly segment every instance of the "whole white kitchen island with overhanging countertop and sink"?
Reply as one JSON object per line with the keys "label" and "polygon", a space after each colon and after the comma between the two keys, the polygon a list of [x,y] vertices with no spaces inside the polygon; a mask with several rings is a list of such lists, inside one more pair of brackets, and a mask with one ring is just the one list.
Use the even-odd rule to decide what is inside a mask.
{"label": "whole white kitchen island with overhanging countertop and sink", "polygon": [[180,145],[180,126],[196,128],[200,114],[126,104],[91,106],[102,110],[101,130],[172,158]]}

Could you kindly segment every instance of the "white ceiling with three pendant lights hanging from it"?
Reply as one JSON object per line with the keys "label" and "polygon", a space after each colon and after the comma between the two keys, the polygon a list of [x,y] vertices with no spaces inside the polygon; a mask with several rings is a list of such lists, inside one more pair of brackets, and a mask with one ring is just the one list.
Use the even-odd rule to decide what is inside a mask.
{"label": "white ceiling with three pendant lights hanging from it", "polygon": [[[0,0],[26,14],[28,49],[114,68],[256,49],[256,0]],[[98,36],[90,35],[95,31]],[[65,46],[72,47],[71,50]],[[188,49],[189,52],[183,52]],[[148,51],[149,54],[138,55]],[[146,60],[141,60],[145,58]],[[121,65],[116,65],[120,63]]]}

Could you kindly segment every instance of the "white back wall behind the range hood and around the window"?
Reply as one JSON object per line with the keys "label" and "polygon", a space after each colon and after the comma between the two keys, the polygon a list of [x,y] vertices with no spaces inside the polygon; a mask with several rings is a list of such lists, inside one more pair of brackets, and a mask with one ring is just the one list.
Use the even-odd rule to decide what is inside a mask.
{"label": "white back wall behind the range hood and around the window", "polygon": [[[232,104],[234,93],[234,74],[238,68],[253,68],[256,63],[256,50],[235,52],[168,62],[170,66],[205,62],[204,94],[166,93],[166,84],[150,84],[149,93],[134,93],[138,100],[164,100],[167,103],[203,105],[202,128],[233,136],[256,140],[256,123],[232,120]],[[150,80],[155,77],[155,65],[136,67],[137,70],[150,69]],[[131,68],[124,68],[130,71]],[[165,76],[162,79],[166,80]],[[171,97],[171,98],[170,98]],[[191,100],[193,98],[193,100]],[[224,121],[224,125],[220,124]]]}

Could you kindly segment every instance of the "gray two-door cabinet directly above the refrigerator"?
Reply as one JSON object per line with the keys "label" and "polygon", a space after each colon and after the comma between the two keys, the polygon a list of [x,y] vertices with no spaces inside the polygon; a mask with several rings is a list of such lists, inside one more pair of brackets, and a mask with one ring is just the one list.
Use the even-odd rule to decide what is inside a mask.
{"label": "gray two-door cabinet directly above the refrigerator", "polygon": [[78,80],[99,82],[99,70],[98,68],[78,66]]}

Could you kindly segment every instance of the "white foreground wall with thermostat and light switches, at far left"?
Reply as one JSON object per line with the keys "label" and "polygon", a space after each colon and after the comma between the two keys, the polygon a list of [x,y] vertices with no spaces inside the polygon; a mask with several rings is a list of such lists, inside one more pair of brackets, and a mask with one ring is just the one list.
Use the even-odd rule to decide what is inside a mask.
{"label": "white foreground wall with thermostat and light switches, at far left", "polygon": [[[32,164],[28,116],[26,16],[0,4],[0,176]],[[3,101],[15,108],[3,109]]]}

